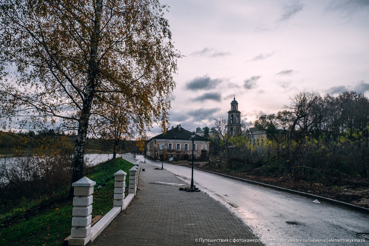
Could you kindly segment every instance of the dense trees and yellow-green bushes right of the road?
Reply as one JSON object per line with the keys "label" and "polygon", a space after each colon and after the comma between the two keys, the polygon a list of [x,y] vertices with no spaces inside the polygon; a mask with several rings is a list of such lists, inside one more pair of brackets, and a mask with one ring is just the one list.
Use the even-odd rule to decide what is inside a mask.
{"label": "dense trees and yellow-green bushes right of the road", "polygon": [[301,91],[283,111],[261,115],[254,128],[244,125],[240,135],[228,136],[225,122],[213,124],[223,125],[220,139],[212,140],[218,166],[306,180],[334,173],[369,177],[369,100],[362,93]]}

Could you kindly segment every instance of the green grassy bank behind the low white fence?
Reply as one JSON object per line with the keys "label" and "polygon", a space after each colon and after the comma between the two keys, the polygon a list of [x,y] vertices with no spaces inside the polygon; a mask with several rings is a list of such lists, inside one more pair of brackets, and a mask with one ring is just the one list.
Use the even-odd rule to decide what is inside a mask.
{"label": "green grassy bank behind the low white fence", "polygon": [[[134,165],[122,159],[108,160],[88,171],[89,179],[96,181],[93,194],[92,216],[104,215],[113,207],[114,173],[127,173]],[[97,188],[98,186],[101,188]],[[10,226],[0,229],[0,245],[63,245],[72,229],[72,200],[55,202],[27,219],[18,219]],[[18,208],[18,212],[21,208]],[[26,211],[27,212],[27,211]]]}

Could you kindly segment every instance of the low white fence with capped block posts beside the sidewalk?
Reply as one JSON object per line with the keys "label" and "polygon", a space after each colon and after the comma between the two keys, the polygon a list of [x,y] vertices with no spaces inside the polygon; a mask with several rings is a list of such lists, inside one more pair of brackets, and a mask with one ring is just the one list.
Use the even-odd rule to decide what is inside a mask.
{"label": "low white fence with capped block posts beside the sidewalk", "polygon": [[125,177],[127,173],[122,170],[114,173],[114,201],[113,208],[103,216],[96,224],[90,225],[92,220],[92,198],[93,187],[95,181],[87,177],[76,181],[72,184],[74,187],[73,198],[73,218],[72,232],[70,234],[68,245],[85,246],[92,242],[104,231],[104,229],[113,221],[113,219],[124,209],[128,207],[132,199],[135,197],[137,190],[137,181],[139,175],[140,160],[133,158],[129,153],[122,155],[124,160],[135,164],[130,171],[128,195],[124,197]]}

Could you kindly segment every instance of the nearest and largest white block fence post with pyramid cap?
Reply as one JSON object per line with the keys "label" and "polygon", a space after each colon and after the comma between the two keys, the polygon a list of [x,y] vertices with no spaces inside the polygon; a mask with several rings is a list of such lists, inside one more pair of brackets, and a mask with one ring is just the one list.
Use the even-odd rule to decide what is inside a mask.
{"label": "nearest and largest white block fence post with pyramid cap", "polygon": [[91,240],[92,198],[95,181],[87,177],[72,184],[74,187],[72,232],[69,245],[85,246]]}

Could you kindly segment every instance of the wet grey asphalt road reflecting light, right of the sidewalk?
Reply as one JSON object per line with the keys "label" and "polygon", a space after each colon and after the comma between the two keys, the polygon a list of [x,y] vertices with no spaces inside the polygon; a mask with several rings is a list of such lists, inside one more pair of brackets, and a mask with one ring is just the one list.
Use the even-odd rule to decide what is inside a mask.
{"label": "wet grey asphalt road reflecting light, right of the sidewalk", "polygon": [[[188,167],[164,163],[164,169],[191,181]],[[369,245],[358,236],[369,233],[367,214],[204,171],[193,175],[196,187],[234,212],[265,245]]]}

